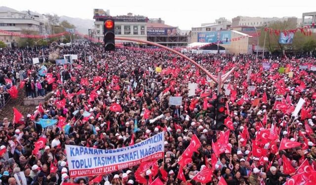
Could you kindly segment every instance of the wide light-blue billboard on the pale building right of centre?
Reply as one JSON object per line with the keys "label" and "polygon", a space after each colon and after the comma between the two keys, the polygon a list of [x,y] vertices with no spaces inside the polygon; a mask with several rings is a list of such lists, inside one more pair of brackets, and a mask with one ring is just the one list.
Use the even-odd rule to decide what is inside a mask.
{"label": "wide light-blue billboard on the pale building right of centre", "polygon": [[231,43],[230,31],[215,31],[215,32],[202,32],[197,33],[198,42],[230,44]]}

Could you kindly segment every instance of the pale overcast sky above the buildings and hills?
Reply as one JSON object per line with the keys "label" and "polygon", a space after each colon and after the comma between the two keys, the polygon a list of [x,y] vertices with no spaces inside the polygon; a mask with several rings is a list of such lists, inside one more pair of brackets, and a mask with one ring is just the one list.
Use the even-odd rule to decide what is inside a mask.
{"label": "pale overcast sky above the buildings and hills", "polygon": [[303,12],[316,11],[316,0],[0,0],[0,6],[83,19],[93,19],[94,8],[109,9],[111,15],[131,12],[148,18],[160,17],[167,25],[191,30],[219,17],[301,18]]}

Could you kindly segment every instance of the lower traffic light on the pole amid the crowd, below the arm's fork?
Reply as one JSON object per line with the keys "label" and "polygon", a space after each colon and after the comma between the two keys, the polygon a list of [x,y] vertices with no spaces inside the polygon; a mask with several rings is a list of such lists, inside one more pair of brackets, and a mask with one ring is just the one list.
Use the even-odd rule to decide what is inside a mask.
{"label": "lower traffic light on the pole amid the crowd, below the arm's fork", "polygon": [[227,98],[223,95],[218,95],[217,100],[216,100],[216,128],[218,130],[223,130],[225,125],[224,125],[224,120],[227,117],[225,114],[226,111],[226,102]]}

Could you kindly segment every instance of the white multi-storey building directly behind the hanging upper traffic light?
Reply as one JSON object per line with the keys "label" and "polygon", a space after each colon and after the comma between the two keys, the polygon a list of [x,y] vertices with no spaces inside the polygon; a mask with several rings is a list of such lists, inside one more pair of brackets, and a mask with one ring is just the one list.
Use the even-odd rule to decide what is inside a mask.
{"label": "white multi-storey building directly behind the hanging upper traffic light", "polygon": [[[100,10],[100,9],[98,9]],[[121,16],[110,16],[107,13],[100,14],[94,10],[94,31],[92,36],[103,42],[104,39],[104,20],[114,19],[115,21],[115,35],[117,37],[128,37],[136,38],[140,40],[147,40],[147,21],[148,18],[141,15],[132,15],[128,13],[127,15]],[[116,43],[125,43],[124,40],[116,40]],[[136,42],[133,42],[136,43]],[[142,43],[136,43],[142,44]]]}

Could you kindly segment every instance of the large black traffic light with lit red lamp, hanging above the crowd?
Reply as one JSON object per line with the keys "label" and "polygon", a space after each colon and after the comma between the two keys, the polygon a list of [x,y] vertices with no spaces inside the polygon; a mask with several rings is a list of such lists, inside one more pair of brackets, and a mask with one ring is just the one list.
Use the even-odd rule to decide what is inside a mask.
{"label": "large black traffic light with lit red lamp, hanging above the crowd", "polygon": [[115,51],[115,30],[113,19],[104,21],[104,50]]}

